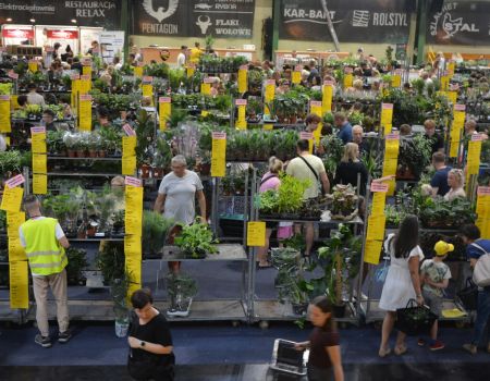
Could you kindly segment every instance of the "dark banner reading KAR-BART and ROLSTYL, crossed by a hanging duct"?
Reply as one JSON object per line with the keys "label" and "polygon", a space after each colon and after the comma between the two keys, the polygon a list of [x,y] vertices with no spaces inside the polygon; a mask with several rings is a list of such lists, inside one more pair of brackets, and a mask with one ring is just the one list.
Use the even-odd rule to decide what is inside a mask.
{"label": "dark banner reading KAR-BART and ROLSTYL, crossed by a hanging duct", "polygon": [[[331,41],[327,15],[319,0],[281,0],[279,38]],[[329,0],[328,9],[342,42],[406,42],[411,0]],[[326,33],[327,32],[327,33]]]}

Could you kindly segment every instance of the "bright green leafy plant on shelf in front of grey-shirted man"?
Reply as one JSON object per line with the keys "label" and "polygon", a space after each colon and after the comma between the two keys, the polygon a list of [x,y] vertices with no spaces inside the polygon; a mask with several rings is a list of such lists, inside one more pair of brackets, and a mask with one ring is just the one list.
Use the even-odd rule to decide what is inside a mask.
{"label": "bright green leafy plant on shelf in front of grey-shirted man", "polygon": [[207,254],[218,254],[212,232],[197,218],[192,225],[183,225],[182,233],[175,237],[175,245],[192,258],[206,258]]}

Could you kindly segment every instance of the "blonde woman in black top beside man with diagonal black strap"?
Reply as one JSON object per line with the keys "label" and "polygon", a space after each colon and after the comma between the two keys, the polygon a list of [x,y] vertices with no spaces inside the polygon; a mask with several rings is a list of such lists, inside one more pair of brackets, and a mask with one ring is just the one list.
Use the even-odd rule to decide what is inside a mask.
{"label": "blonde woman in black top beside man with diagonal black strap", "polygon": [[347,143],[344,147],[344,156],[336,168],[333,184],[351,184],[357,186],[357,177],[360,174],[359,194],[366,195],[368,171],[359,160],[359,146],[356,143]]}

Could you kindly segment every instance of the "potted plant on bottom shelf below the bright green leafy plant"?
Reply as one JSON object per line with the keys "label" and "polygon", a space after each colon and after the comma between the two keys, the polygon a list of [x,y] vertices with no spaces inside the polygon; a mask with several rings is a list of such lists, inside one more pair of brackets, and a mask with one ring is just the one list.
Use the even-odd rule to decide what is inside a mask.
{"label": "potted plant on bottom shelf below the bright green leafy plant", "polygon": [[167,292],[170,296],[169,317],[187,317],[194,296],[197,294],[197,283],[189,275],[169,272],[166,276]]}

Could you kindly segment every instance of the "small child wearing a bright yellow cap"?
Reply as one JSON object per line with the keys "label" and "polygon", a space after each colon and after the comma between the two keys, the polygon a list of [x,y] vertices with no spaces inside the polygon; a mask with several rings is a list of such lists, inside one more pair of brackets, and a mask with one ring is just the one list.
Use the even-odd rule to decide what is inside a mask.
{"label": "small child wearing a bright yellow cap", "polygon": [[[443,290],[448,288],[449,280],[451,279],[451,270],[448,265],[443,262],[448,258],[448,254],[454,250],[454,245],[448,244],[444,241],[439,241],[434,247],[436,257],[427,259],[420,267],[420,282],[422,285],[422,296],[426,305],[430,310],[441,317]],[[439,351],[444,348],[444,343],[438,340],[439,322],[436,320],[430,329],[430,351]],[[424,339],[418,340],[418,345],[424,346],[426,342]]]}

